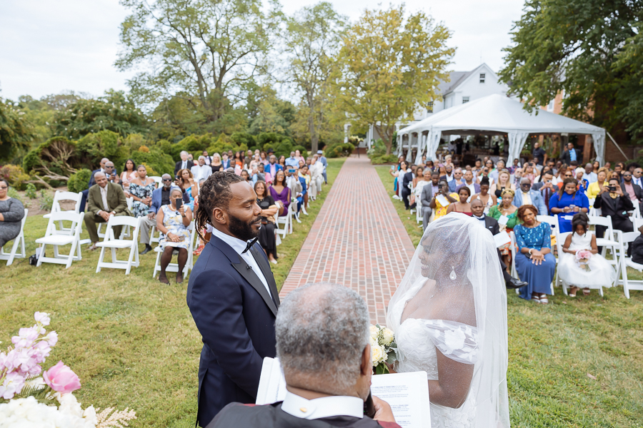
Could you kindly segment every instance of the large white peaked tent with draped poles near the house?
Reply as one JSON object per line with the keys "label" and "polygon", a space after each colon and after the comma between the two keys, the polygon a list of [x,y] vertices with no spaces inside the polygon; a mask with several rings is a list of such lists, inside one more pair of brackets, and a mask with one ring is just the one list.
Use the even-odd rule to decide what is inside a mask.
{"label": "large white peaked tent with draped poles near the house", "polygon": [[507,134],[509,138],[507,165],[512,165],[514,158],[519,157],[530,133],[589,134],[594,141],[597,161],[603,164],[605,156],[603,128],[541,109],[538,110],[538,114],[529,113],[522,106],[522,103],[507,96],[489,95],[462,106],[439,111],[418,123],[402,128],[397,131],[397,138],[402,142],[402,138],[406,135],[409,138],[410,149],[411,136],[417,134],[416,163],[419,163],[423,153],[426,153],[427,159],[435,159],[435,152],[443,134]]}

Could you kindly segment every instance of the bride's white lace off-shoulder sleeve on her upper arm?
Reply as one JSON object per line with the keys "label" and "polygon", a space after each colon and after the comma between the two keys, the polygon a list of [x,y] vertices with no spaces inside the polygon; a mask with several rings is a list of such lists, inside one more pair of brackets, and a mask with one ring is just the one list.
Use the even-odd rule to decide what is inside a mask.
{"label": "bride's white lace off-shoulder sleeve on her upper arm", "polygon": [[462,322],[425,320],[435,347],[456,362],[475,364],[478,360],[478,330]]}

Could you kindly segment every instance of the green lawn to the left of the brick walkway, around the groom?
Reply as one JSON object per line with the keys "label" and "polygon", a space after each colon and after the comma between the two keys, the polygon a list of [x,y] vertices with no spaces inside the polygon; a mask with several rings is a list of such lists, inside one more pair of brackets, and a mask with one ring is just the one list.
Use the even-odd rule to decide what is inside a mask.
{"label": "green lawn to the left of the brick walkway, around the groom", "polygon": [[[329,159],[329,185],[277,248],[273,272],[279,288],[343,163]],[[28,255],[45,229],[41,216],[27,219]],[[34,267],[21,259],[6,267],[0,261],[0,346],[19,327],[33,325],[35,311],[50,312],[59,342],[45,366],[62,360],[79,374],[83,387],[76,397],[84,406],[135,409],[139,419],[132,427],[194,427],[201,335],[186,306],[187,280],[177,285],[169,275],[168,286],[153,279],[155,256],[141,256],[141,265],[127,276],[124,270],[94,273],[97,251],[84,251],[69,269]]]}

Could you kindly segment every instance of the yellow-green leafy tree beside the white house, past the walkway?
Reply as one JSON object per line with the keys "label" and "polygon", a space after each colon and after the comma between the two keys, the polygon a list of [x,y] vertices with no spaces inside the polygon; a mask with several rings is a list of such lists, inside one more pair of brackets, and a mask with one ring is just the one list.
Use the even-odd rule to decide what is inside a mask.
{"label": "yellow-green leafy tree beside the white house, past the walkway", "polygon": [[439,80],[455,49],[449,30],[422,12],[405,18],[404,5],[365,11],[347,31],[337,56],[337,105],[356,126],[372,124],[391,153],[395,123],[418,105],[439,99]]}

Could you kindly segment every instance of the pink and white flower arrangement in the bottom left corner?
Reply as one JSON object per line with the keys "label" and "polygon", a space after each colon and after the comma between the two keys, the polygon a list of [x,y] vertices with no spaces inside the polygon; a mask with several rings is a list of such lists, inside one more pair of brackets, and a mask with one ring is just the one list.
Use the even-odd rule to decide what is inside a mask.
{"label": "pink and white flower arrangement in the bottom left corner", "polygon": [[14,347],[0,352],[0,427],[121,428],[136,419],[129,409],[83,409],[71,394],[81,387],[80,379],[63,362],[43,370],[58,335],[45,330],[49,314],[36,312],[34,318],[36,325],[21,328],[11,337]]}

